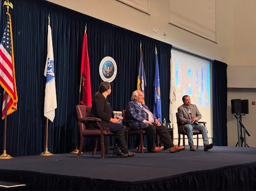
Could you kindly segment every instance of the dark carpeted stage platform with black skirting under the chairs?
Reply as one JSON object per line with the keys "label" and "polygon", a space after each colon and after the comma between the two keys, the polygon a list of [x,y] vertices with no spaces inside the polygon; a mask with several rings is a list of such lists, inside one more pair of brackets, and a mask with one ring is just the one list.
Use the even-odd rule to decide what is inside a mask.
{"label": "dark carpeted stage platform with black skirting under the chairs", "polygon": [[[134,151],[134,150],[133,150]],[[109,151],[112,153],[112,151]],[[100,159],[85,152],[0,160],[0,181],[27,190],[256,190],[256,148],[143,154]]]}

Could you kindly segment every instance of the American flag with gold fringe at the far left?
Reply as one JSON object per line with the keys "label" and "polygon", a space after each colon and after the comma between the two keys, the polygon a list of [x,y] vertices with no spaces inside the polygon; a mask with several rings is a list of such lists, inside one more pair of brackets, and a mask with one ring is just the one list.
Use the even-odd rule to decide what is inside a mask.
{"label": "American flag with gold fringe at the far left", "polygon": [[0,44],[0,85],[3,87],[2,119],[5,117],[5,95],[7,94],[7,115],[17,110],[17,91],[12,46],[10,14],[6,12],[6,25]]}

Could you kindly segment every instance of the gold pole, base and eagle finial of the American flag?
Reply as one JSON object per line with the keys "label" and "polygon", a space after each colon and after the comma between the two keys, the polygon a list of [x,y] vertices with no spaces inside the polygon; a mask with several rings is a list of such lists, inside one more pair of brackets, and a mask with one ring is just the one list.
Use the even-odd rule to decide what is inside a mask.
{"label": "gold pole, base and eagle finial of the American flag", "polygon": [[[3,6],[6,5],[7,12],[9,13],[9,7],[13,8],[13,5],[9,0],[3,2]],[[4,96],[4,95],[3,95]],[[4,137],[3,137],[3,153],[0,155],[0,159],[12,159],[13,157],[6,154],[6,132],[7,132],[7,92],[5,93],[5,110],[4,110]]]}

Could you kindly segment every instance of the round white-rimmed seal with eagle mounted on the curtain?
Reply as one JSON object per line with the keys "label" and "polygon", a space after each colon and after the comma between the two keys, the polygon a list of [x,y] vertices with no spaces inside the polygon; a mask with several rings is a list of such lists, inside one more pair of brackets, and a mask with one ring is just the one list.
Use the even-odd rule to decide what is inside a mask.
{"label": "round white-rimmed seal with eagle mounted on the curtain", "polygon": [[117,73],[114,59],[110,56],[104,57],[100,61],[98,72],[104,82],[112,82]]}

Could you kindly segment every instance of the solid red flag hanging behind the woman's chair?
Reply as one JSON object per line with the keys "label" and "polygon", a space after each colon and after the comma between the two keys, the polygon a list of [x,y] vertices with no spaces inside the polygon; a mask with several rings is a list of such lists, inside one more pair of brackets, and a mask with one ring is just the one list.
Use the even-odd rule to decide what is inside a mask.
{"label": "solid red flag hanging behind the woman's chair", "polygon": [[91,106],[91,90],[90,90],[90,67],[89,56],[87,49],[87,35],[84,32],[82,44],[82,60],[81,60],[81,74],[82,74],[82,105]]}

